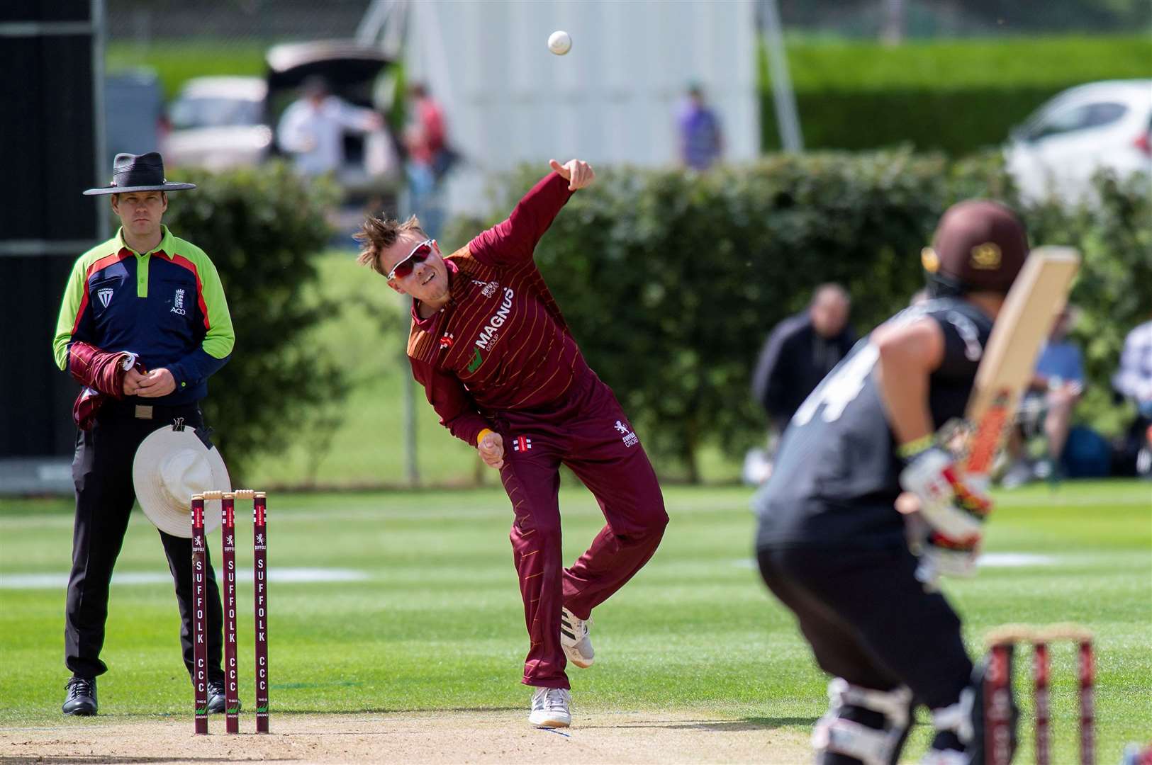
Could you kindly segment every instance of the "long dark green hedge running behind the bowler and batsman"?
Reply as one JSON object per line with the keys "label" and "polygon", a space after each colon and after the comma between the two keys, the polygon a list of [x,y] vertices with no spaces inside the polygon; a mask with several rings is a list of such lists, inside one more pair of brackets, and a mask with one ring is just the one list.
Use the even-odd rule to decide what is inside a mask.
{"label": "long dark green hedge running behind the bowler and batsman", "polygon": [[[490,220],[457,221],[446,240],[506,216],[539,175],[511,179]],[[1147,190],[1102,188],[1104,212],[1024,211],[1034,243],[1085,252],[1075,297],[1087,313],[1098,398],[1123,332],[1152,305]],[[854,324],[867,331],[922,285],[918,253],[940,213],[971,196],[1014,201],[996,156],[776,155],[703,176],[616,168],[568,202],[536,258],[658,469],[694,480],[702,445],[738,457],[763,439],[749,387],[771,328],[802,309],[813,286],[838,281],[852,294]],[[1096,406],[1093,416],[1107,414]]]}

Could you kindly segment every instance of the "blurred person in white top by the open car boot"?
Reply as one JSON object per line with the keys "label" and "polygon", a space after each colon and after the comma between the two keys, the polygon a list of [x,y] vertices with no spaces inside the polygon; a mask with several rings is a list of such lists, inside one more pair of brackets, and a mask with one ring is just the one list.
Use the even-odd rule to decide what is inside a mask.
{"label": "blurred person in white top by the open car boot", "polygon": [[301,98],[280,117],[276,141],[293,155],[301,175],[339,177],[344,169],[344,132],[366,133],[382,127],[379,114],[333,95],[328,82],[312,75],[301,85]]}

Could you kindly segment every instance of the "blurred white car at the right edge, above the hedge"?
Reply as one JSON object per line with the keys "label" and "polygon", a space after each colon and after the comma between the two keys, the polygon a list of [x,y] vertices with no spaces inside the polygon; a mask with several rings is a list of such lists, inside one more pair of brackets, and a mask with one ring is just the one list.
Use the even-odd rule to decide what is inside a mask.
{"label": "blurred white car at the right edge, above the hedge", "polygon": [[1152,79],[1116,79],[1069,89],[1011,132],[1008,173],[1021,196],[1091,199],[1099,168],[1120,176],[1149,174],[1152,183]]}

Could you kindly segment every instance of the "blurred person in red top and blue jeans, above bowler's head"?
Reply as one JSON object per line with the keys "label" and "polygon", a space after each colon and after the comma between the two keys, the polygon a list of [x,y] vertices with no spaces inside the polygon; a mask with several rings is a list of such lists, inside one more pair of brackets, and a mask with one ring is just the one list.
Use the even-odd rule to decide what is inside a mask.
{"label": "blurred person in red top and blue jeans, above bowler's head", "polygon": [[410,120],[404,130],[408,148],[408,191],[412,214],[420,219],[429,237],[437,238],[444,225],[441,181],[448,173],[455,153],[448,148],[444,110],[423,83],[408,89],[412,100]]}

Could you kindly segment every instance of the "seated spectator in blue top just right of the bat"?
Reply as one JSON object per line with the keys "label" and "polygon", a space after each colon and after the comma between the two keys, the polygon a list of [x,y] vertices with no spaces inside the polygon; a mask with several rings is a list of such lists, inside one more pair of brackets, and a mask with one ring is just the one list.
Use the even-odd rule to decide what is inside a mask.
{"label": "seated spectator in blue top just right of the bat", "polygon": [[[1033,477],[1059,477],[1060,456],[1068,443],[1073,410],[1084,392],[1081,350],[1068,339],[1075,320],[1076,311],[1071,306],[1064,306],[1037,359],[1032,382],[1020,405],[1021,428],[1013,435],[1009,444],[1016,464],[1001,482],[1006,489],[1018,487]],[[1044,454],[1033,466],[1029,462],[1023,438],[1039,435],[1044,436]]]}

